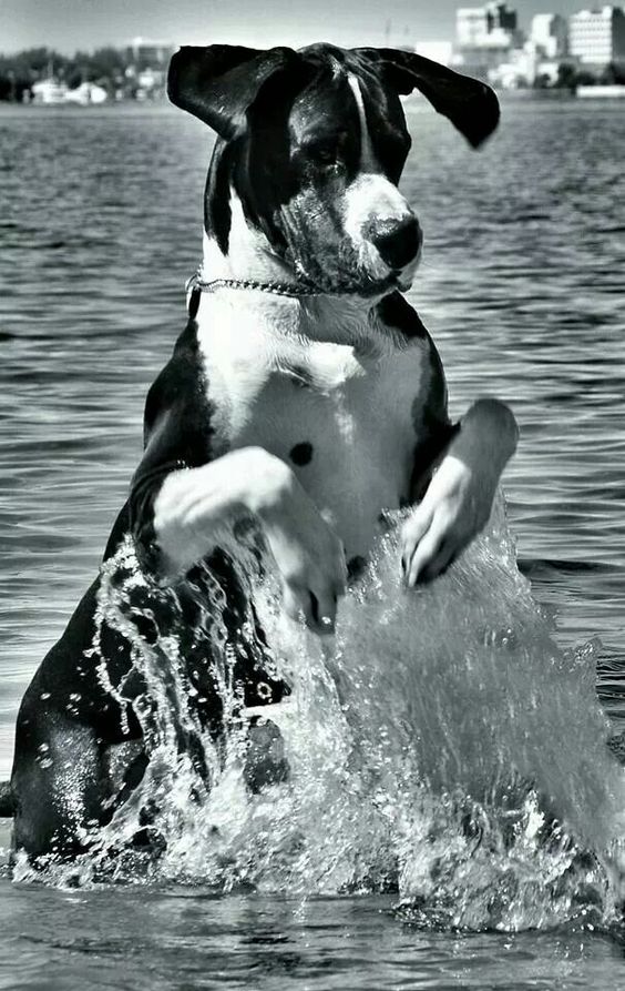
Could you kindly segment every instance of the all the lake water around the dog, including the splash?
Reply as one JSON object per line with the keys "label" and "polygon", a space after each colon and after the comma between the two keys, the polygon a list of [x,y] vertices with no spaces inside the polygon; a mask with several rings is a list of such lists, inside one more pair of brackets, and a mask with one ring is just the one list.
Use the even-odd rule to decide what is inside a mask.
{"label": "all the lake water around the dog, including the splash", "polygon": [[[6,775],[23,688],[93,575],[140,456],[145,387],[197,261],[211,139],[160,108],[1,113]],[[250,802],[233,740],[205,816],[183,803],[161,823],[175,842],[155,871],[121,864],[126,884],[70,892],[2,882],[4,987],[43,987],[43,974],[63,989],[622,982],[618,940],[603,932],[609,861],[580,850],[618,838],[625,807],[603,742],[623,729],[623,111],[510,103],[480,154],[441,119],[410,113],[404,185],[427,247],[412,301],[452,411],[491,393],[520,421],[504,482],[543,615],[501,522],[410,604],[389,596],[389,536],[344,609],[339,656],[304,635],[285,648],[299,679],[283,727],[295,793]],[[266,610],[285,644],[270,595]],[[542,798],[505,780],[509,758],[572,839],[545,847]],[[376,893],[398,861],[400,896]]]}

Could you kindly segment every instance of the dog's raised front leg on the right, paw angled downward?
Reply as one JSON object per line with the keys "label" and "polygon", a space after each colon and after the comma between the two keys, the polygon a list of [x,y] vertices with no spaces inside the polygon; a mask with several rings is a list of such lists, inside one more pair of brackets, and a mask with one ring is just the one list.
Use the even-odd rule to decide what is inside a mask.
{"label": "dog's raised front leg on the right, paw angled downward", "polygon": [[516,449],[511,411],[496,400],[474,403],[401,530],[409,587],[440,575],[486,525],[501,473]]}

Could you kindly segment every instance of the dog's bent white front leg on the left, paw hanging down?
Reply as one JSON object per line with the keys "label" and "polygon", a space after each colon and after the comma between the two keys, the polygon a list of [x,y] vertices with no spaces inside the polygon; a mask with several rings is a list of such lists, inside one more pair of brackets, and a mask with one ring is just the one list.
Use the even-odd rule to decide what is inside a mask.
{"label": "dog's bent white front leg on the left, paw hanging down", "polygon": [[295,474],[259,447],[229,452],[172,472],[154,502],[154,533],[164,570],[180,574],[215,547],[233,544],[232,526],[255,516],[283,579],[286,611],[304,613],[330,633],[346,588],[342,545]]}

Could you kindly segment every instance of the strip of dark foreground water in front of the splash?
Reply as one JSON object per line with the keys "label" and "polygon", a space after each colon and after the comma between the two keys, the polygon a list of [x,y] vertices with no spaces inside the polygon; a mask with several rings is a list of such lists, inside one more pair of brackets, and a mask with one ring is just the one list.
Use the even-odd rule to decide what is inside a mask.
{"label": "strip of dark foreground water in front of the splash", "polygon": [[390,907],[388,897],[299,906],[187,889],[18,888],[6,894],[0,962],[14,971],[19,953],[21,982],[4,987],[115,991],[586,991],[617,988],[623,973],[621,949],[602,936],[423,933],[400,924]]}

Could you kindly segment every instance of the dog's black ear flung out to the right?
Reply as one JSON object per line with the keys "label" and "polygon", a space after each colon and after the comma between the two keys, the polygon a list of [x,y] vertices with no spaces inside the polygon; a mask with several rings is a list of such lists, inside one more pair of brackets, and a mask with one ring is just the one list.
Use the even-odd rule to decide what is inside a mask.
{"label": "dog's black ear flung out to the right", "polygon": [[462,75],[439,62],[392,48],[356,49],[376,63],[398,93],[417,89],[444,114],[473,148],[492,134],[499,122],[499,100],[484,82]]}

